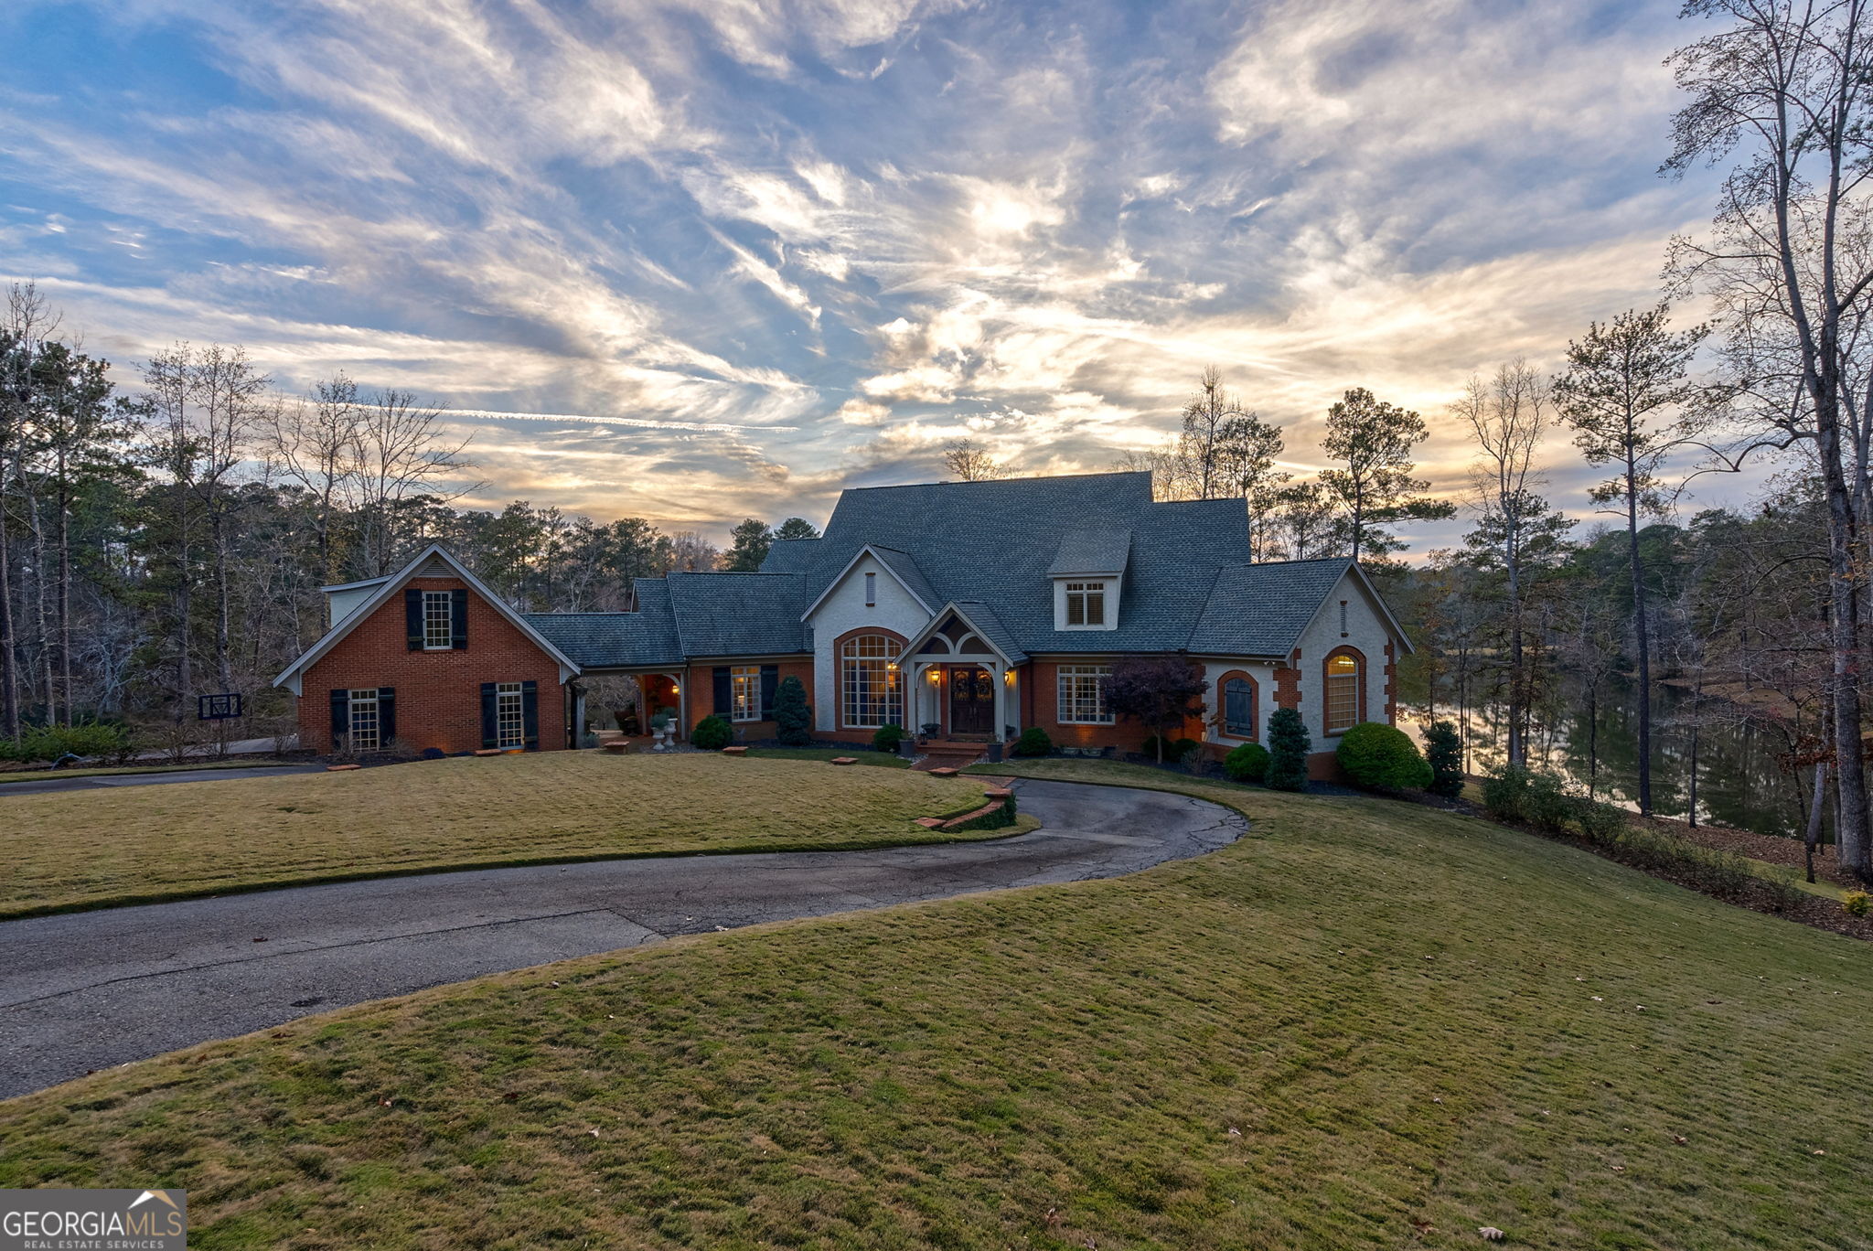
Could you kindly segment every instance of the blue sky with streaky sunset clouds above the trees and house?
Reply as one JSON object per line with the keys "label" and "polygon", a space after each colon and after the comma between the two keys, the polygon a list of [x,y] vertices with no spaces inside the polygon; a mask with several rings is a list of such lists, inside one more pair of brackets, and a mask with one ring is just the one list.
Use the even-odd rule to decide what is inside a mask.
{"label": "blue sky with streaky sunset clouds above the trees and house", "polygon": [[1656,174],[1688,37],[1673,0],[13,0],[0,281],[125,380],[221,341],[446,403],[476,504],[824,521],[963,433],[1096,470],[1206,363],[1296,468],[1349,386],[1420,408],[1455,489],[1463,380],[1553,369],[1708,217]]}

